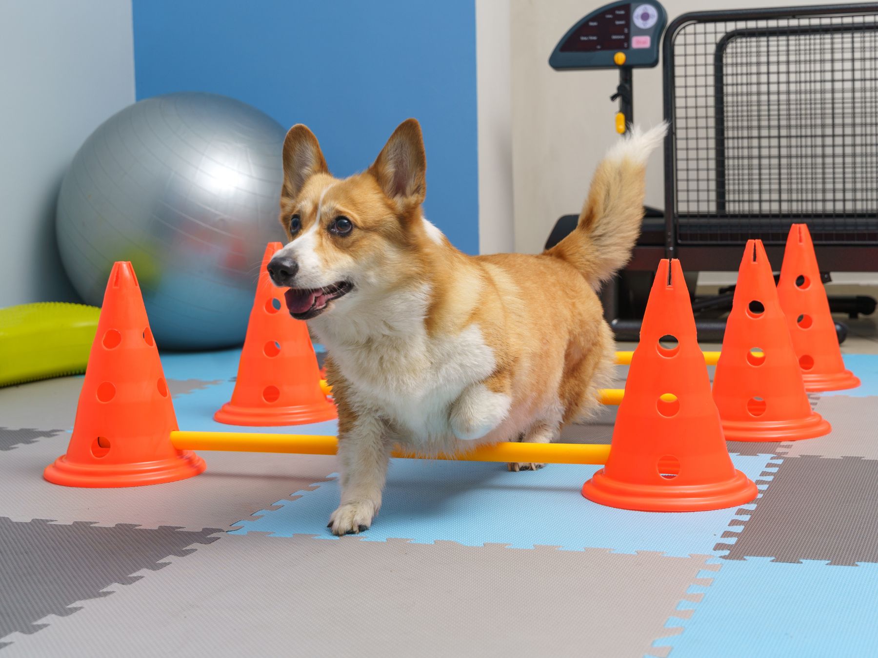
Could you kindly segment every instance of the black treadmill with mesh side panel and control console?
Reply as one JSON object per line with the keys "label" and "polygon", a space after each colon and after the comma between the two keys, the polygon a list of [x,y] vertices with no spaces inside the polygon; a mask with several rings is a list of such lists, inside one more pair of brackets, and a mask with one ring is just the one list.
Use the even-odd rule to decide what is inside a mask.
{"label": "black treadmill with mesh side panel and control console", "polygon": [[[631,68],[659,63],[665,23],[658,2],[608,4],[573,25],[550,64],[619,68],[624,132]],[[629,266],[602,293],[616,337],[637,340],[659,259],[680,258],[694,291],[695,273],[737,271],[745,240],[759,238],[779,269],[793,223],[809,225],[827,273],[878,271],[878,4],[696,11],[668,25],[661,46],[665,211],[645,209]],[[558,219],[546,247],[575,224]],[[722,340],[733,290],[694,297],[701,340]],[[830,297],[830,307],[856,318],[875,300]]]}

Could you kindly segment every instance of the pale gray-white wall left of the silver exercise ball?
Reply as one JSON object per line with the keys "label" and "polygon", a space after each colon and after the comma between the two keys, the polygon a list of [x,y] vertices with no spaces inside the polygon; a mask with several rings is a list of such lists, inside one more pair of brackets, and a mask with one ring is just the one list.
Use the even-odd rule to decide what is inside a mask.
{"label": "pale gray-white wall left of the silver exercise ball", "polygon": [[130,0],[0,3],[0,98],[0,307],[76,300],[55,201],[83,140],[134,102]]}

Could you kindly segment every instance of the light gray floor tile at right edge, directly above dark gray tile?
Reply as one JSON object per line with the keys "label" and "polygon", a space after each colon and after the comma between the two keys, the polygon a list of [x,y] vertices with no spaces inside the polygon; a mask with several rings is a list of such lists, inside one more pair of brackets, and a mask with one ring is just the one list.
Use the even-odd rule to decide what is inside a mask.
{"label": "light gray floor tile at right edge, directly above dark gray tile", "polygon": [[778,454],[878,459],[878,397],[820,397],[817,411],[830,422],[831,433],[783,444]]}

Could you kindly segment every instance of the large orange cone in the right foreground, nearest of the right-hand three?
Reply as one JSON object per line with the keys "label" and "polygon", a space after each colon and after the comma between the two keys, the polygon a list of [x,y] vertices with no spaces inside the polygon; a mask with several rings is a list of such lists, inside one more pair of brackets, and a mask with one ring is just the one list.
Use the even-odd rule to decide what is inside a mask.
{"label": "large orange cone in the right foreground, nearest of the right-hand three", "polygon": [[659,263],[607,464],[582,495],[640,511],[720,510],[757,496],[723,439],[680,261]]}

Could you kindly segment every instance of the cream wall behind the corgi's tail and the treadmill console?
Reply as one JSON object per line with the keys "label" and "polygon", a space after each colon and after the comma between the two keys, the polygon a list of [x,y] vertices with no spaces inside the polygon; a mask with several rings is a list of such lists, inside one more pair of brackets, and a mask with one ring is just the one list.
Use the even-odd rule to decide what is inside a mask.
{"label": "cream wall behind the corgi's tail and the treadmill console", "polygon": [[[512,134],[515,250],[543,248],[558,217],[578,213],[601,155],[618,136],[614,118],[619,74],[555,71],[549,55],[570,27],[601,0],[512,0]],[[759,0],[662,0],[668,22],[687,11],[744,9]],[[815,0],[777,5],[819,4]],[[661,62],[634,70],[634,118],[641,125],[662,119]],[[481,125],[479,124],[479,130]],[[646,204],[664,208],[663,161],[653,154],[647,169]]]}

